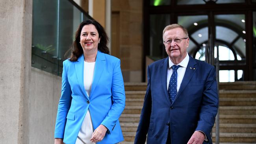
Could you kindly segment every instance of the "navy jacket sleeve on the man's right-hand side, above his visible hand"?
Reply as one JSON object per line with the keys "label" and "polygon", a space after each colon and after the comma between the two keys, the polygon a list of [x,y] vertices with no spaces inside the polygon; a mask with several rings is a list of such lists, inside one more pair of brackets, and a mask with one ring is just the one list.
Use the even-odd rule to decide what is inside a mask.
{"label": "navy jacket sleeve on the man's right-hand side, above his visible hand", "polygon": [[203,91],[199,120],[195,131],[203,131],[210,138],[211,128],[218,111],[219,96],[217,91],[216,70],[212,66]]}

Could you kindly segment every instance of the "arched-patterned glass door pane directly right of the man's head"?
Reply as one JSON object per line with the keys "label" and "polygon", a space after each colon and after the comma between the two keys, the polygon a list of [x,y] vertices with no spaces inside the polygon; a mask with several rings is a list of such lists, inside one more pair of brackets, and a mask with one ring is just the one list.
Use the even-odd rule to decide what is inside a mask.
{"label": "arched-patterned glass door pane directly right of the man's head", "polygon": [[187,49],[187,52],[190,55],[194,55],[198,47],[202,44],[205,45],[205,43],[208,41],[208,16],[179,16],[178,24],[184,26],[184,28],[187,29],[190,37],[189,48]]}

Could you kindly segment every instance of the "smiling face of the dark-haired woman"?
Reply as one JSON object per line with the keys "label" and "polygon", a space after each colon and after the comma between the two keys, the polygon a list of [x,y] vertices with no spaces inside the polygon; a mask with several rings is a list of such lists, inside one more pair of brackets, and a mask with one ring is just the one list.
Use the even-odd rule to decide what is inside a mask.
{"label": "smiling face of the dark-haired woman", "polygon": [[99,41],[99,33],[93,24],[83,26],[80,34],[80,43],[84,52],[97,51]]}

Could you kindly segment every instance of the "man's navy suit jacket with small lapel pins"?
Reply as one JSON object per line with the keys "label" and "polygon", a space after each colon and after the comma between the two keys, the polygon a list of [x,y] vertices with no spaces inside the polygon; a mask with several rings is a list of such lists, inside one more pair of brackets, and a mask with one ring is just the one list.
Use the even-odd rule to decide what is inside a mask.
{"label": "man's navy suit jacket with small lapel pins", "polygon": [[148,66],[148,85],[134,144],[187,144],[195,131],[210,132],[219,98],[215,68],[189,56],[180,89],[171,104],[167,94],[168,57]]}

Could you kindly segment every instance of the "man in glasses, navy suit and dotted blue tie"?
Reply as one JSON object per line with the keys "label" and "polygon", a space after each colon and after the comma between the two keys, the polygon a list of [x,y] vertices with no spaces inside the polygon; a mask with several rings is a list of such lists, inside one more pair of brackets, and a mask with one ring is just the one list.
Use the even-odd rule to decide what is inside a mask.
{"label": "man in glasses, navy suit and dotted blue tie", "polygon": [[[218,109],[215,68],[187,54],[187,30],[166,26],[169,57],[148,66],[148,86],[134,144],[211,144]],[[174,66],[173,66],[174,65]]]}

